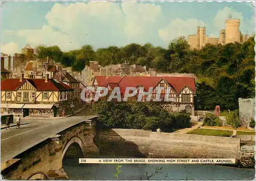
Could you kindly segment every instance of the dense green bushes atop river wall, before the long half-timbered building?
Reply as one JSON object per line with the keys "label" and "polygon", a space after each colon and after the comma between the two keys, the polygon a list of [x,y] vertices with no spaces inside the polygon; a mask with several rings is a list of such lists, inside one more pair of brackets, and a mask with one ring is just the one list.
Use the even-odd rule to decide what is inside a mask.
{"label": "dense green bushes atop river wall, before the long half-timbered building", "polygon": [[163,132],[190,127],[190,116],[184,112],[168,112],[154,102],[108,102],[101,99],[92,106],[99,121],[106,128],[130,128]]}

